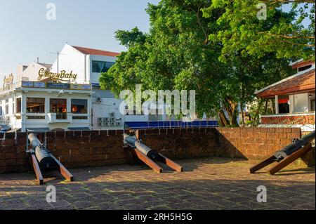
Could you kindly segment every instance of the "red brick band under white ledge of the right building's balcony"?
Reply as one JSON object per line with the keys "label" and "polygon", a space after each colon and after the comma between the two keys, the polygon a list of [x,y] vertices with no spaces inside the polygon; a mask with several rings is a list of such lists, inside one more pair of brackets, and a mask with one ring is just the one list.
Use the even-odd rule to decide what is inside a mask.
{"label": "red brick band under white ledge of the right building's balcony", "polygon": [[261,124],[315,124],[315,115],[261,117]]}

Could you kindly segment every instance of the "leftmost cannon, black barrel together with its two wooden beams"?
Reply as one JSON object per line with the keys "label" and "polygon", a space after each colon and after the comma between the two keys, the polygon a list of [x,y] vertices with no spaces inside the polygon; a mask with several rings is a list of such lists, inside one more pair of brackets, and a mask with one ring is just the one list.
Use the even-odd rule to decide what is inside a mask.
{"label": "leftmost cannon, black barrel together with its two wooden beams", "polygon": [[[31,148],[29,148],[31,147]],[[44,184],[44,178],[41,173],[42,170],[57,169],[65,179],[73,181],[74,176],[63,166],[58,159],[56,159],[51,151],[48,150],[46,144],[42,144],[37,133],[27,133],[27,154],[32,161],[34,172],[37,176],[39,185]]]}

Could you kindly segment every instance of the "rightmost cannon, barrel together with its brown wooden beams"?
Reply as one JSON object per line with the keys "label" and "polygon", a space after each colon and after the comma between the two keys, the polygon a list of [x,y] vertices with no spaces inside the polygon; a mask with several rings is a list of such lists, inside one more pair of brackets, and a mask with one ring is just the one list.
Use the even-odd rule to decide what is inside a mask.
{"label": "rightmost cannon, barrel together with its brown wooden beams", "polygon": [[277,162],[277,164],[272,166],[272,168],[268,171],[269,174],[274,175],[285,166],[291,164],[296,159],[303,157],[303,155],[312,150],[311,142],[314,139],[315,131],[303,136],[303,138],[294,139],[291,144],[282,148],[282,150],[278,150],[271,157],[268,157],[259,164],[256,164],[256,166],[251,167],[250,173],[256,173],[256,171],[263,169],[265,166]]}

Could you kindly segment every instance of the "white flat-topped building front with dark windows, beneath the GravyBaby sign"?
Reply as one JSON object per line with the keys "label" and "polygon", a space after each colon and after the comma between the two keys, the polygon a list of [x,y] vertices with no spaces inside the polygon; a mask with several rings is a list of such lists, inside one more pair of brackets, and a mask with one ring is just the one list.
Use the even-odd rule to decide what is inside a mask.
{"label": "white flat-topped building front with dark windows, beneath the GravyBaby sign", "polygon": [[12,131],[90,130],[90,84],[19,81],[0,88],[0,126]]}

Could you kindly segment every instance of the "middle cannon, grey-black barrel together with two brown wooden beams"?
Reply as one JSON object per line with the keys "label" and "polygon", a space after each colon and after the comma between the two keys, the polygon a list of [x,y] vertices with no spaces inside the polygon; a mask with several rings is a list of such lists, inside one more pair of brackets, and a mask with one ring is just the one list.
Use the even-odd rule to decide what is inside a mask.
{"label": "middle cannon, grey-black barrel together with two brown wooden beams", "polygon": [[183,167],[171,159],[168,159],[163,154],[157,152],[157,150],[152,150],[152,148],[143,144],[141,140],[138,140],[135,136],[129,136],[124,133],[124,146],[128,148],[133,154],[140,159],[142,162],[150,166],[157,173],[162,173],[163,169],[154,161],[162,162],[178,172],[183,171]]}

